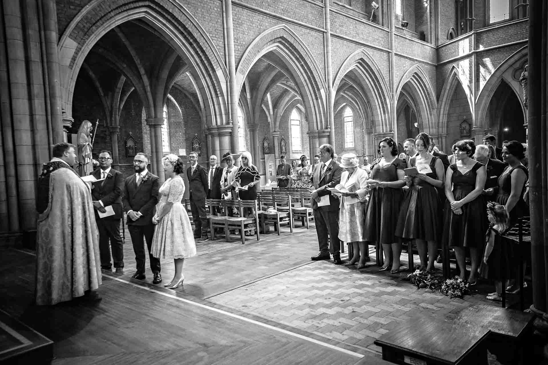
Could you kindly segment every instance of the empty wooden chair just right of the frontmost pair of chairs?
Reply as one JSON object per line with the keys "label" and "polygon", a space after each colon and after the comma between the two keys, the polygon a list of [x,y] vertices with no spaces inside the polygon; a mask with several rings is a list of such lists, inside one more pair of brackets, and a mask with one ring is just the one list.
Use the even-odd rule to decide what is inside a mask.
{"label": "empty wooden chair just right of the frontmost pair of chairs", "polygon": [[[261,229],[265,231],[266,224],[273,224],[275,230],[278,231],[278,236],[280,234],[280,228],[282,224],[289,225],[289,231],[293,232],[293,214],[290,209],[280,210],[279,207],[290,207],[291,206],[291,197],[287,194],[274,194],[272,196],[263,195],[259,198],[259,220],[261,224]],[[266,208],[266,209],[265,209]],[[287,220],[283,220],[287,218]]]}

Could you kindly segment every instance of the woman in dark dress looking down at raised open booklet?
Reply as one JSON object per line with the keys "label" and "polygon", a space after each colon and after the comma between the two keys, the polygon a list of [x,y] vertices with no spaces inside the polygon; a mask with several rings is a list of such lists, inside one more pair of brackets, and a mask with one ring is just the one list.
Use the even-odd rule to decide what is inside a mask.
{"label": "woman in dark dress looking down at raised open booklet", "polygon": [[[412,178],[405,176],[404,181],[410,191],[403,199],[399,210],[396,236],[414,239],[419,249],[420,265],[426,270],[434,269],[437,258],[437,242],[441,235],[440,199],[436,188],[443,186],[443,163],[441,158],[428,152],[430,138],[420,133],[415,139],[415,148],[419,155],[409,158],[408,167],[426,168],[430,172],[419,173]],[[428,248],[428,250],[426,250]]]}

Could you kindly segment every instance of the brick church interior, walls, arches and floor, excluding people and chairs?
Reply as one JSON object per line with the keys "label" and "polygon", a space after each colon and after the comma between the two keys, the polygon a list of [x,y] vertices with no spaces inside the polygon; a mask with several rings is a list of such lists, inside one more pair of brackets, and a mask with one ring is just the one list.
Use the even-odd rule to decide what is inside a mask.
{"label": "brick church interior, walls, arches and floor, excluding people and chairs", "polygon": [[[0,362],[548,363],[547,17],[541,0],[0,2]],[[526,286],[501,307],[487,283],[450,298],[378,272],[373,245],[364,270],[310,261],[315,222],[295,220],[197,242],[172,290],[132,279],[122,225],[127,264],[103,270],[100,303],[35,306],[38,177],[84,121],[93,159],[129,176],[144,152],[161,183],[169,153],[186,169],[248,151],[264,186],[324,144],[371,162],[420,132],[447,155],[526,143]]]}

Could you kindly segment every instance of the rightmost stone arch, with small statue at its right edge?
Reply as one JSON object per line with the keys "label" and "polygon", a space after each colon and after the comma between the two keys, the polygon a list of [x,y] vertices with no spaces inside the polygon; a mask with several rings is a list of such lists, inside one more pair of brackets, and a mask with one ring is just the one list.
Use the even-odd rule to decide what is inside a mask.
{"label": "rightmost stone arch, with small statue at its right edge", "polygon": [[512,75],[516,71],[513,67],[516,64],[521,64],[528,57],[528,46],[518,49],[501,64],[496,67],[492,75],[487,79],[487,82],[483,85],[483,88],[479,90],[479,94],[476,98],[476,125],[479,128],[487,128],[485,125],[485,118],[487,115],[487,109],[489,103],[493,98],[495,90],[499,87],[500,83],[504,80],[510,88],[516,93],[517,98],[522,103],[523,120],[527,120],[527,109],[523,106],[523,93],[521,83],[516,80]]}

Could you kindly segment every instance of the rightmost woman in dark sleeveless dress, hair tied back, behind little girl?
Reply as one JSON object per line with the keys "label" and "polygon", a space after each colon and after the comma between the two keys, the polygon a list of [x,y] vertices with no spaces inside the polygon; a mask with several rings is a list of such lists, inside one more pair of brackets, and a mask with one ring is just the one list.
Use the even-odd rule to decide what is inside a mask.
{"label": "rightmost woman in dark sleeveless dress, hair tied back, behind little girl", "polygon": [[499,176],[495,201],[504,206],[510,214],[510,226],[516,224],[518,218],[529,213],[527,203],[523,200],[529,176],[527,168],[521,163],[524,157],[523,145],[520,142],[510,141],[503,145],[503,162],[508,166]]}

